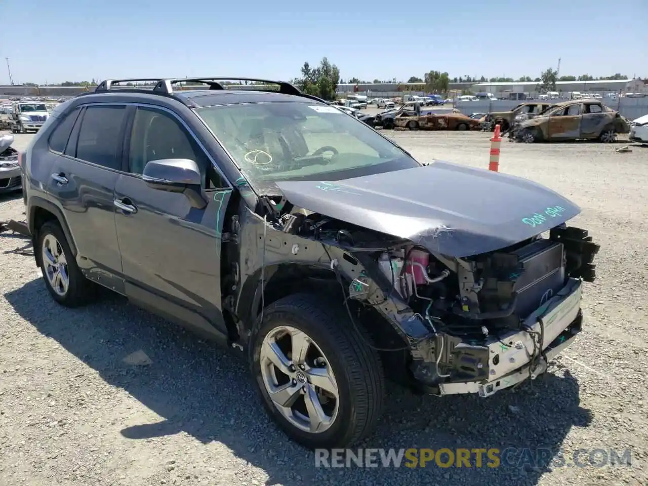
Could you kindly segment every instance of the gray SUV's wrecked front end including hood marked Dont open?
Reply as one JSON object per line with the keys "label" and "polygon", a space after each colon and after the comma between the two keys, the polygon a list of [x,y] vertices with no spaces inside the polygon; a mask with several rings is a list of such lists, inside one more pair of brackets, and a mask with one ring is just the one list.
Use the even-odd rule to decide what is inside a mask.
{"label": "gray SUV's wrecked front end including hood marked Dont open", "polygon": [[[268,203],[267,225],[242,222],[242,238],[268,251],[242,258],[241,273],[258,275],[262,260],[274,269],[268,291],[284,295],[305,289],[301,268],[317,273],[315,292],[328,273],[332,302],[341,286],[351,323],[401,382],[491,395],[542,373],[581,330],[583,281],[596,277],[599,246],[566,226],[579,207],[546,187],[439,161],[277,185],[283,196]],[[251,305],[239,299],[239,315],[257,308],[264,292],[254,292]]]}

